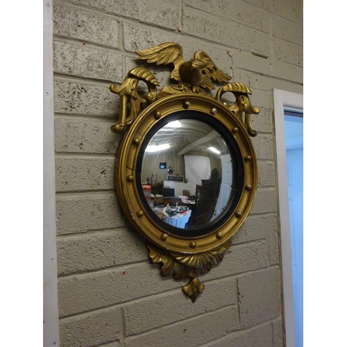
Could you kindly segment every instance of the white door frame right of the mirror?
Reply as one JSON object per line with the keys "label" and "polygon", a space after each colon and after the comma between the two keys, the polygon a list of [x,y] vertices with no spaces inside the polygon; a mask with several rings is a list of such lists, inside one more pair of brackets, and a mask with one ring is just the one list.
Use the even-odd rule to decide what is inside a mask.
{"label": "white door frame right of the mirror", "polygon": [[294,300],[291,280],[291,248],[285,148],[285,109],[303,110],[303,94],[273,90],[275,114],[276,169],[278,179],[279,229],[286,346],[295,347]]}

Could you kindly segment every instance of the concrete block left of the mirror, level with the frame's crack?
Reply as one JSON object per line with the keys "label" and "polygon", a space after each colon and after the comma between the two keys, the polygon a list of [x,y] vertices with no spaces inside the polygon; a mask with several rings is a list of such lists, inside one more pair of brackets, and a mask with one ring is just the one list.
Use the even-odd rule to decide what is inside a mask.
{"label": "concrete block left of the mirror, level with the frame's crack", "polygon": [[56,155],[56,192],[115,189],[115,158]]}

